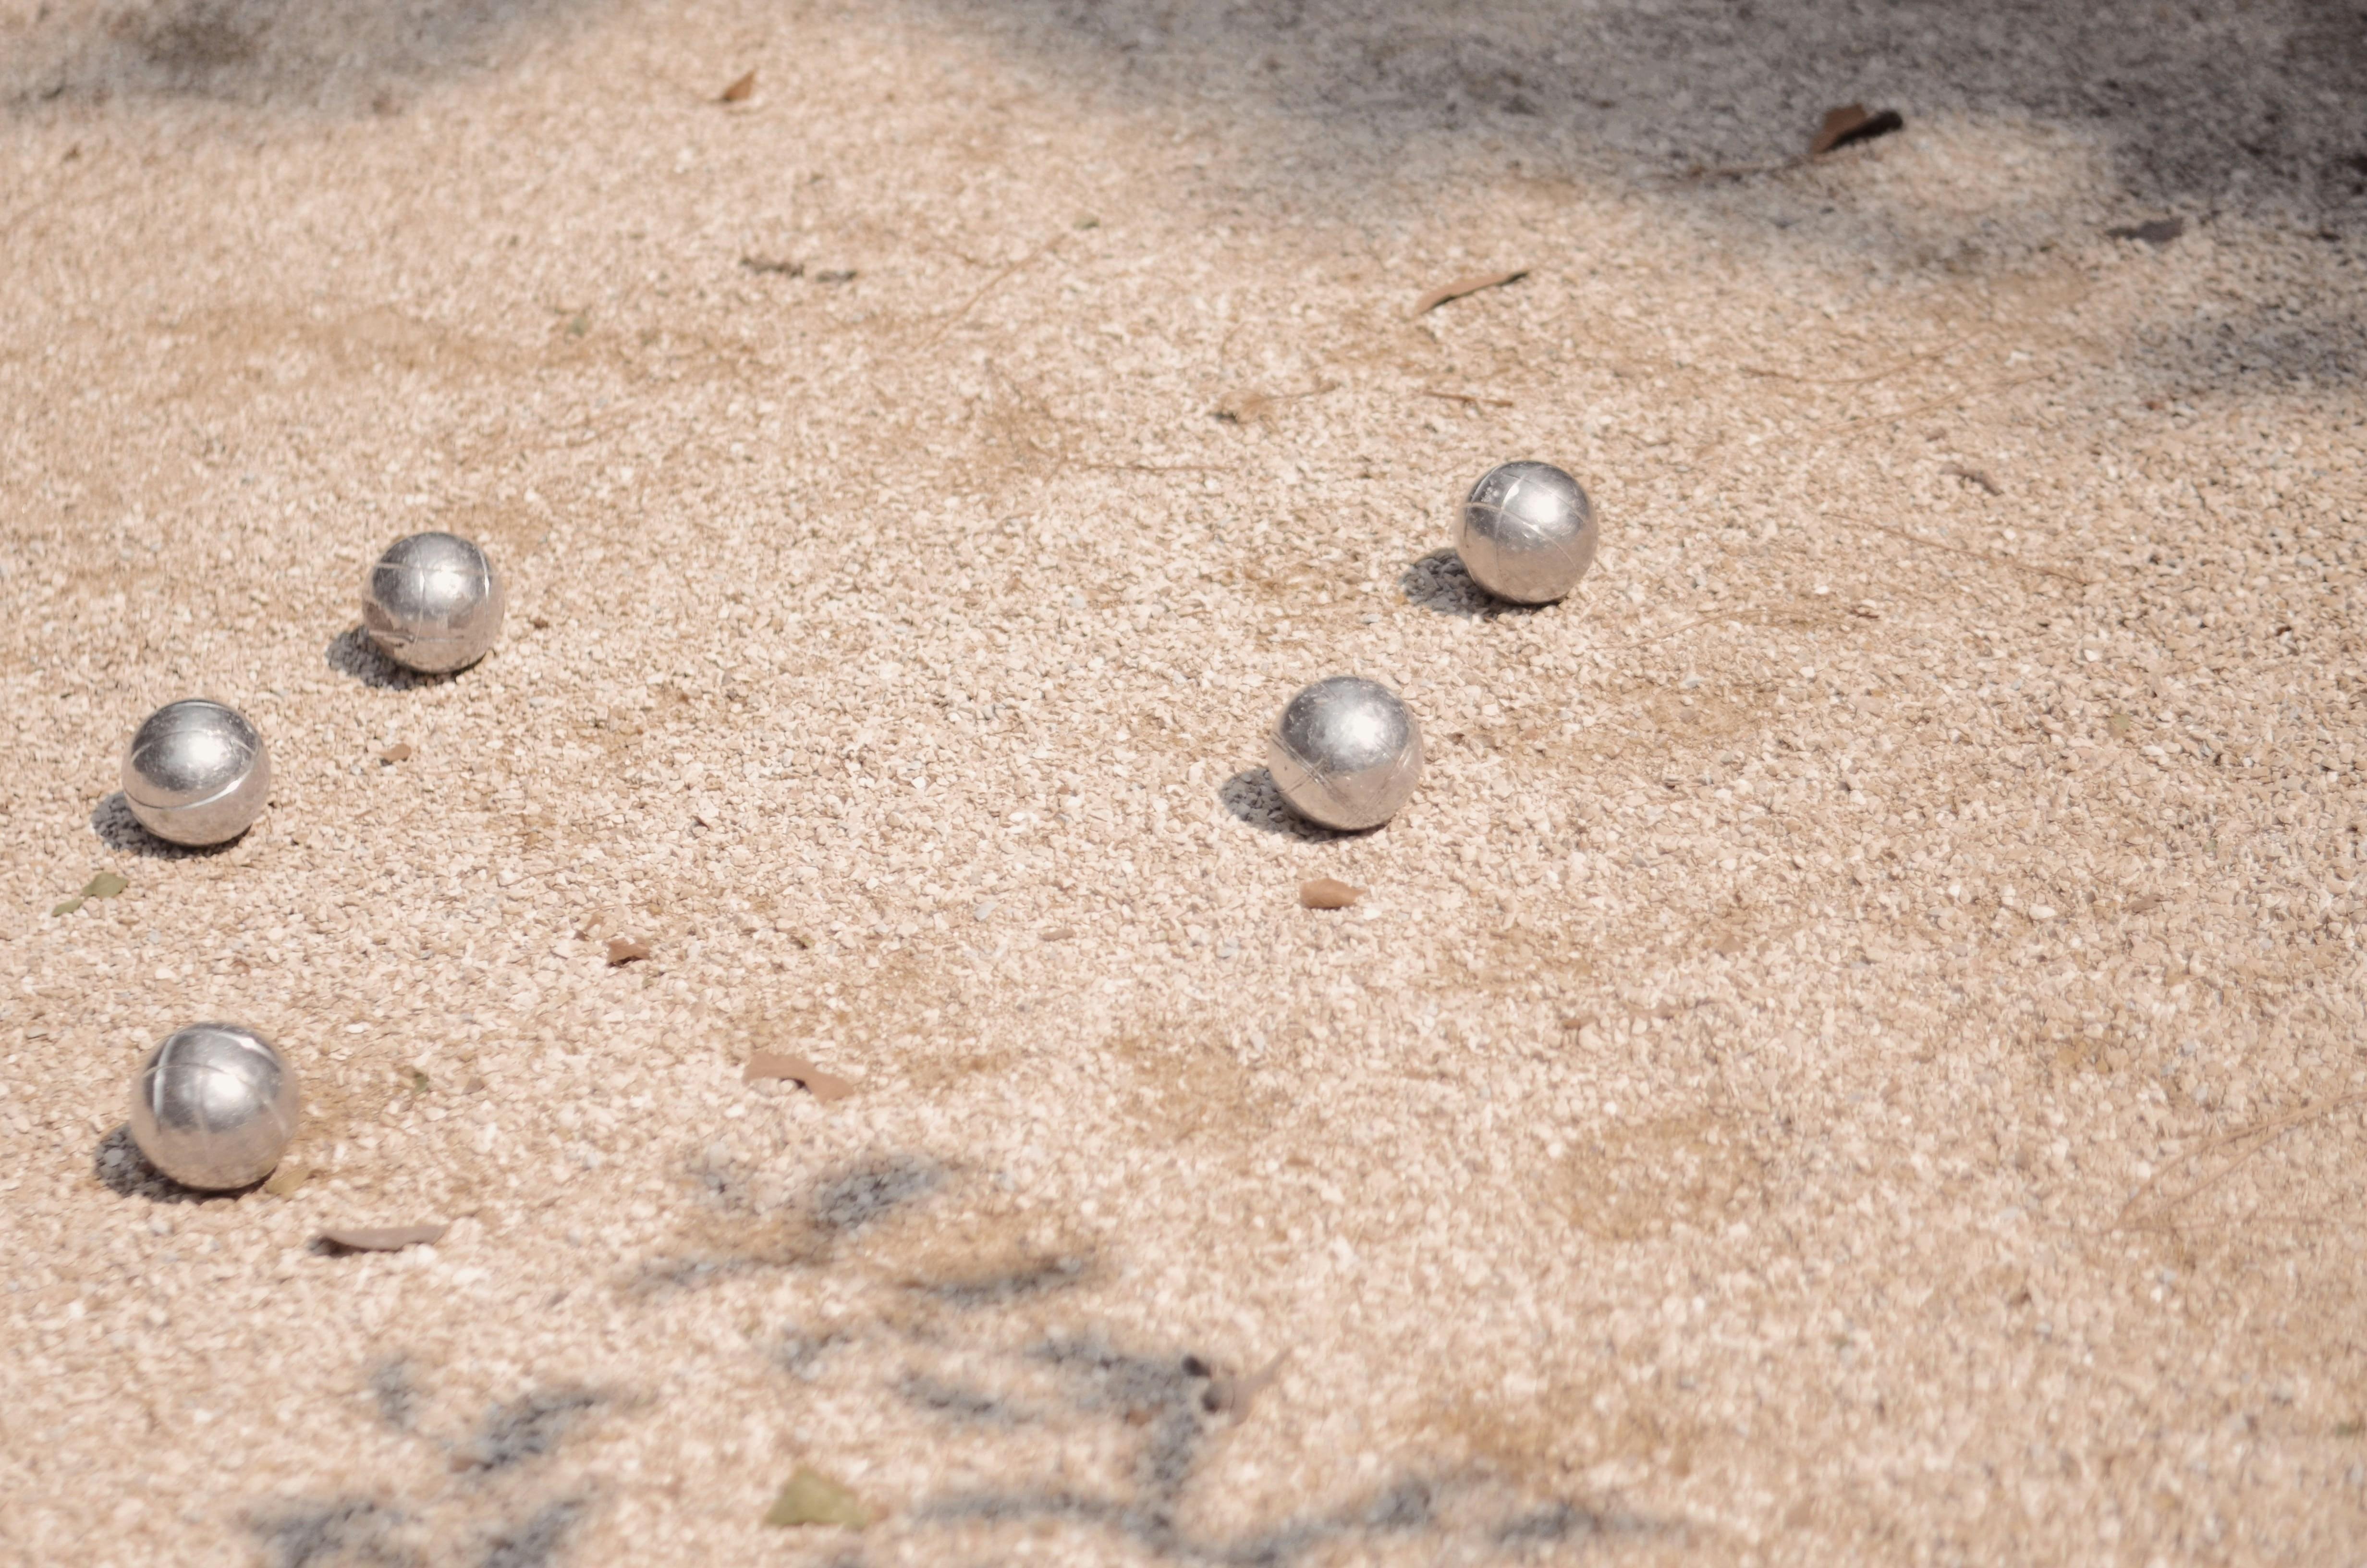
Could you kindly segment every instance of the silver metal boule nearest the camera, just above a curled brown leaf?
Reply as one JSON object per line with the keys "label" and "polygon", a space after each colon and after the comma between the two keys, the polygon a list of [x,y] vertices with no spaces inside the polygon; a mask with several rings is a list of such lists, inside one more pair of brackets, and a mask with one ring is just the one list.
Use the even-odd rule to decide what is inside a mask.
{"label": "silver metal boule nearest the camera, just above a curled brown leaf", "polygon": [[133,1080],[133,1142],[182,1187],[222,1191],[279,1163],[303,1101],[279,1052],[237,1023],[192,1023],[163,1037]]}

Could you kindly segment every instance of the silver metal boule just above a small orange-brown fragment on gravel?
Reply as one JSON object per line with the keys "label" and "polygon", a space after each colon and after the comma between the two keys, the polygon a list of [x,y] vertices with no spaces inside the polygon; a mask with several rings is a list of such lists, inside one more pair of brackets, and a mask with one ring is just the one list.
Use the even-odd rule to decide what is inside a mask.
{"label": "silver metal boule just above a small orange-brown fragment on gravel", "polygon": [[1380,827],[1423,777],[1423,727],[1378,680],[1333,675],[1283,708],[1266,737],[1266,772],[1309,822]]}

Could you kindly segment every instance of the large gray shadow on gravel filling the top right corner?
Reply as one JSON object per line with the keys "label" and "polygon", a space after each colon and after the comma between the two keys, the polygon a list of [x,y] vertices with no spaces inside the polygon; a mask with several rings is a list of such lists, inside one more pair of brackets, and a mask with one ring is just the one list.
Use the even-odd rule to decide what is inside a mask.
{"label": "large gray shadow on gravel filling the top right corner", "polygon": [[[2097,135],[2137,201],[2367,218],[2355,0],[904,0],[1068,90],[1304,126],[1271,149],[1375,197],[1458,137],[1494,171],[1683,178],[1806,152],[1825,109]],[[1690,189],[1707,192],[1716,182]],[[1671,187],[1671,192],[1678,187]],[[1811,201],[1808,213],[1815,211]],[[2154,216],[2154,213],[2137,213]]]}

